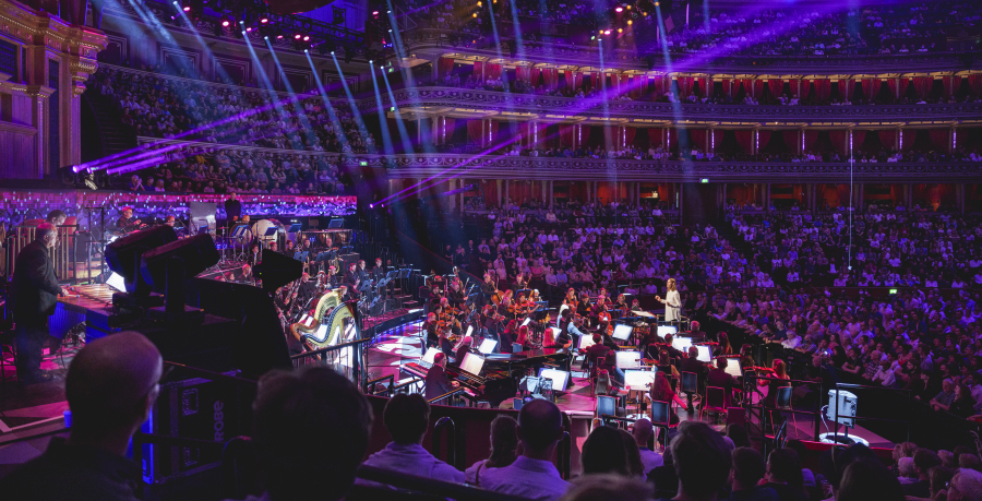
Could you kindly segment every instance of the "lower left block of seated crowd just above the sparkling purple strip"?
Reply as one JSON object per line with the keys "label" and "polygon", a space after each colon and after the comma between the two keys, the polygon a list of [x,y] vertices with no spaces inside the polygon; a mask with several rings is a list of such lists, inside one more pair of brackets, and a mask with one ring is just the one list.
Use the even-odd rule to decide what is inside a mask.
{"label": "lower left block of seated crowd just above the sparkling purple strip", "polygon": [[[166,146],[157,146],[157,148]],[[134,192],[334,194],[350,187],[340,156],[181,146],[128,175]],[[119,182],[124,182],[120,180]]]}

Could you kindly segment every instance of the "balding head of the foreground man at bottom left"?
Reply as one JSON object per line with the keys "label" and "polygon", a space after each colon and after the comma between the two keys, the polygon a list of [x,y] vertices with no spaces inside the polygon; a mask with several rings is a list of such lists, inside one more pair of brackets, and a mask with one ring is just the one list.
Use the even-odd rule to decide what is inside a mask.
{"label": "balding head of the foreground man at bottom left", "polygon": [[157,347],[137,332],[86,344],[64,383],[74,428],[95,433],[135,429],[157,398],[163,362]]}

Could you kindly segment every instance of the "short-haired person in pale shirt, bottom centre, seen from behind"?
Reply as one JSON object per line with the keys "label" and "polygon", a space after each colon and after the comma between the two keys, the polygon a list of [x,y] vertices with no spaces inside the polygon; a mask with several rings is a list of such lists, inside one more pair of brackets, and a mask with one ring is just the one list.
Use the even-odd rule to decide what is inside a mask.
{"label": "short-haired person in pale shirt, bottom centre, seen from behind", "polygon": [[[562,497],[570,484],[560,477],[552,464],[562,433],[562,413],[555,404],[534,399],[522,406],[518,411],[522,455],[508,466],[486,472],[481,480],[482,487],[505,494],[547,501]],[[618,443],[621,443],[620,439]]]}

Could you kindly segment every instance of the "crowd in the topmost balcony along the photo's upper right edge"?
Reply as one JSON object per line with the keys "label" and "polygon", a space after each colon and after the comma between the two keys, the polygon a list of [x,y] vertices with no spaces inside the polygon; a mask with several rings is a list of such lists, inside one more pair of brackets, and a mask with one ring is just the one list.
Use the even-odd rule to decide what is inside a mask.
{"label": "crowd in the topmost balcony along the photo's upper right edge", "polygon": [[[514,3],[514,9],[512,8]],[[834,8],[835,9],[835,8]],[[712,9],[704,14],[699,9],[684,16],[671,15],[668,35],[646,36],[642,29],[654,32],[656,15],[632,16],[597,13],[589,2],[551,0],[540,5],[531,0],[499,1],[475,7],[458,0],[441,4],[416,2],[408,9],[415,22],[424,28],[460,33],[455,45],[475,46],[477,38],[489,44],[499,36],[511,36],[506,29],[513,15],[519,19],[539,17],[549,23],[568,24],[571,29],[586,34],[577,37],[566,33],[559,36],[566,43],[586,45],[597,29],[626,28],[613,37],[618,48],[638,56],[672,53],[715,53],[717,56],[826,56],[857,53],[924,53],[947,50],[948,33],[958,27],[972,28],[980,24],[980,15],[970,2],[945,1],[891,5],[866,5],[853,9],[788,8],[752,12]],[[492,23],[491,12],[494,20]],[[618,23],[615,17],[630,16],[632,25]],[[662,13],[670,17],[669,13]],[[676,19],[681,17],[681,19]],[[684,21],[683,21],[684,20]],[[687,23],[687,24],[686,24]],[[632,27],[633,26],[633,27]],[[494,33],[498,29],[498,34]],[[410,36],[411,38],[411,36]],[[525,41],[535,41],[534,33],[523,33]],[[621,59],[622,55],[611,55]]]}

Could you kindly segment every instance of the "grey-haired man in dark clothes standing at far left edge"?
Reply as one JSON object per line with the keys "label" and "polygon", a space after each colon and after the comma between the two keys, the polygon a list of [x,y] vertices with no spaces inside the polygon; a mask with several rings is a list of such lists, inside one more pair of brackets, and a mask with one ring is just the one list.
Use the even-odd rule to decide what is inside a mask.
{"label": "grey-haired man in dark clothes standing at far left edge", "polygon": [[23,384],[50,381],[40,370],[41,353],[48,338],[48,317],[56,299],[67,290],[58,285],[51,248],[58,231],[49,223],[37,226],[34,241],[17,254],[10,300],[13,302],[17,343],[17,379]]}

